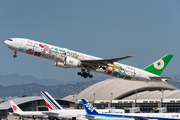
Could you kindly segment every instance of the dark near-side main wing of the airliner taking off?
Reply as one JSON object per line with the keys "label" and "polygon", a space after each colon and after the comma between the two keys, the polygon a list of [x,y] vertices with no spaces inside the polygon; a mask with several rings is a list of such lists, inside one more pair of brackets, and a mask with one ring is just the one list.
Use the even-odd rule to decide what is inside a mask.
{"label": "dark near-side main wing of the airliner taking off", "polygon": [[119,60],[124,60],[126,58],[130,58],[133,56],[125,56],[125,57],[119,57],[119,58],[112,58],[112,59],[98,59],[98,60],[81,60],[81,63],[84,65],[92,66],[93,68],[97,68],[98,65],[107,65],[108,63],[117,62]]}

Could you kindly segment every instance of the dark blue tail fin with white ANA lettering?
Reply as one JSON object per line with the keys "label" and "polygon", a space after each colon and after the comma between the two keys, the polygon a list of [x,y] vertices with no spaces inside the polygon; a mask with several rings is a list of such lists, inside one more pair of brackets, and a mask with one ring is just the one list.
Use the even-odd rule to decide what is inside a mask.
{"label": "dark blue tail fin with white ANA lettering", "polygon": [[99,113],[85,99],[81,99],[87,115],[98,115]]}

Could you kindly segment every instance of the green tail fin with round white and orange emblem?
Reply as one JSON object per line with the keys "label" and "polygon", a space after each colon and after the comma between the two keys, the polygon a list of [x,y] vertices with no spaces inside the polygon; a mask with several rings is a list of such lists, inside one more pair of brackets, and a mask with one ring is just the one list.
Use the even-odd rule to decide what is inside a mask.
{"label": "green tail fin with round white and orange emblem", "polygon": [[162,57],[161,59],[157,60],[153,64],[149,65],[148,67],[144,68],[145,71],[153,73],[155,75],[160,76],[163,70],[168,65],[169,61],[172,59],[173,55],[167,54],[166,56]]}

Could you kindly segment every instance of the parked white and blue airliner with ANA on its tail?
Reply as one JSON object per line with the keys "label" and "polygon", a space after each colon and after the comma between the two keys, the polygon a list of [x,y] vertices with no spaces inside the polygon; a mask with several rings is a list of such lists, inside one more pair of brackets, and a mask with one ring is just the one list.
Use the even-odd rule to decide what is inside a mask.
{"label": "parked white and blue airliner with ANA on its tail", "polygon": [[180,120],[179,113],[124,113],[124,114],[101,114],[98,113],[90,103],[85,99],[81,99],[86,115],[92,117],[91,120],[99,120],[99,118],[104,118],[108,120]]}

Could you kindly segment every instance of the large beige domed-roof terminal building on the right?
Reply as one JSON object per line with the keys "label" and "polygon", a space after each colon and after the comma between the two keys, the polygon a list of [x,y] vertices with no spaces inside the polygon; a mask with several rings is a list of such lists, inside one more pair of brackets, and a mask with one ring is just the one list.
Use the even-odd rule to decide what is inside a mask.
{"label": "large beige domed-roof terminal building on the right", "polygon": [[166,82],[107,79],[62,100],[75,101],[77,108],[82,108],[81,98],[99,109],[140,107],[141,112],[152,112],[166,107],[167,112],[180,112],[180,90]]}

